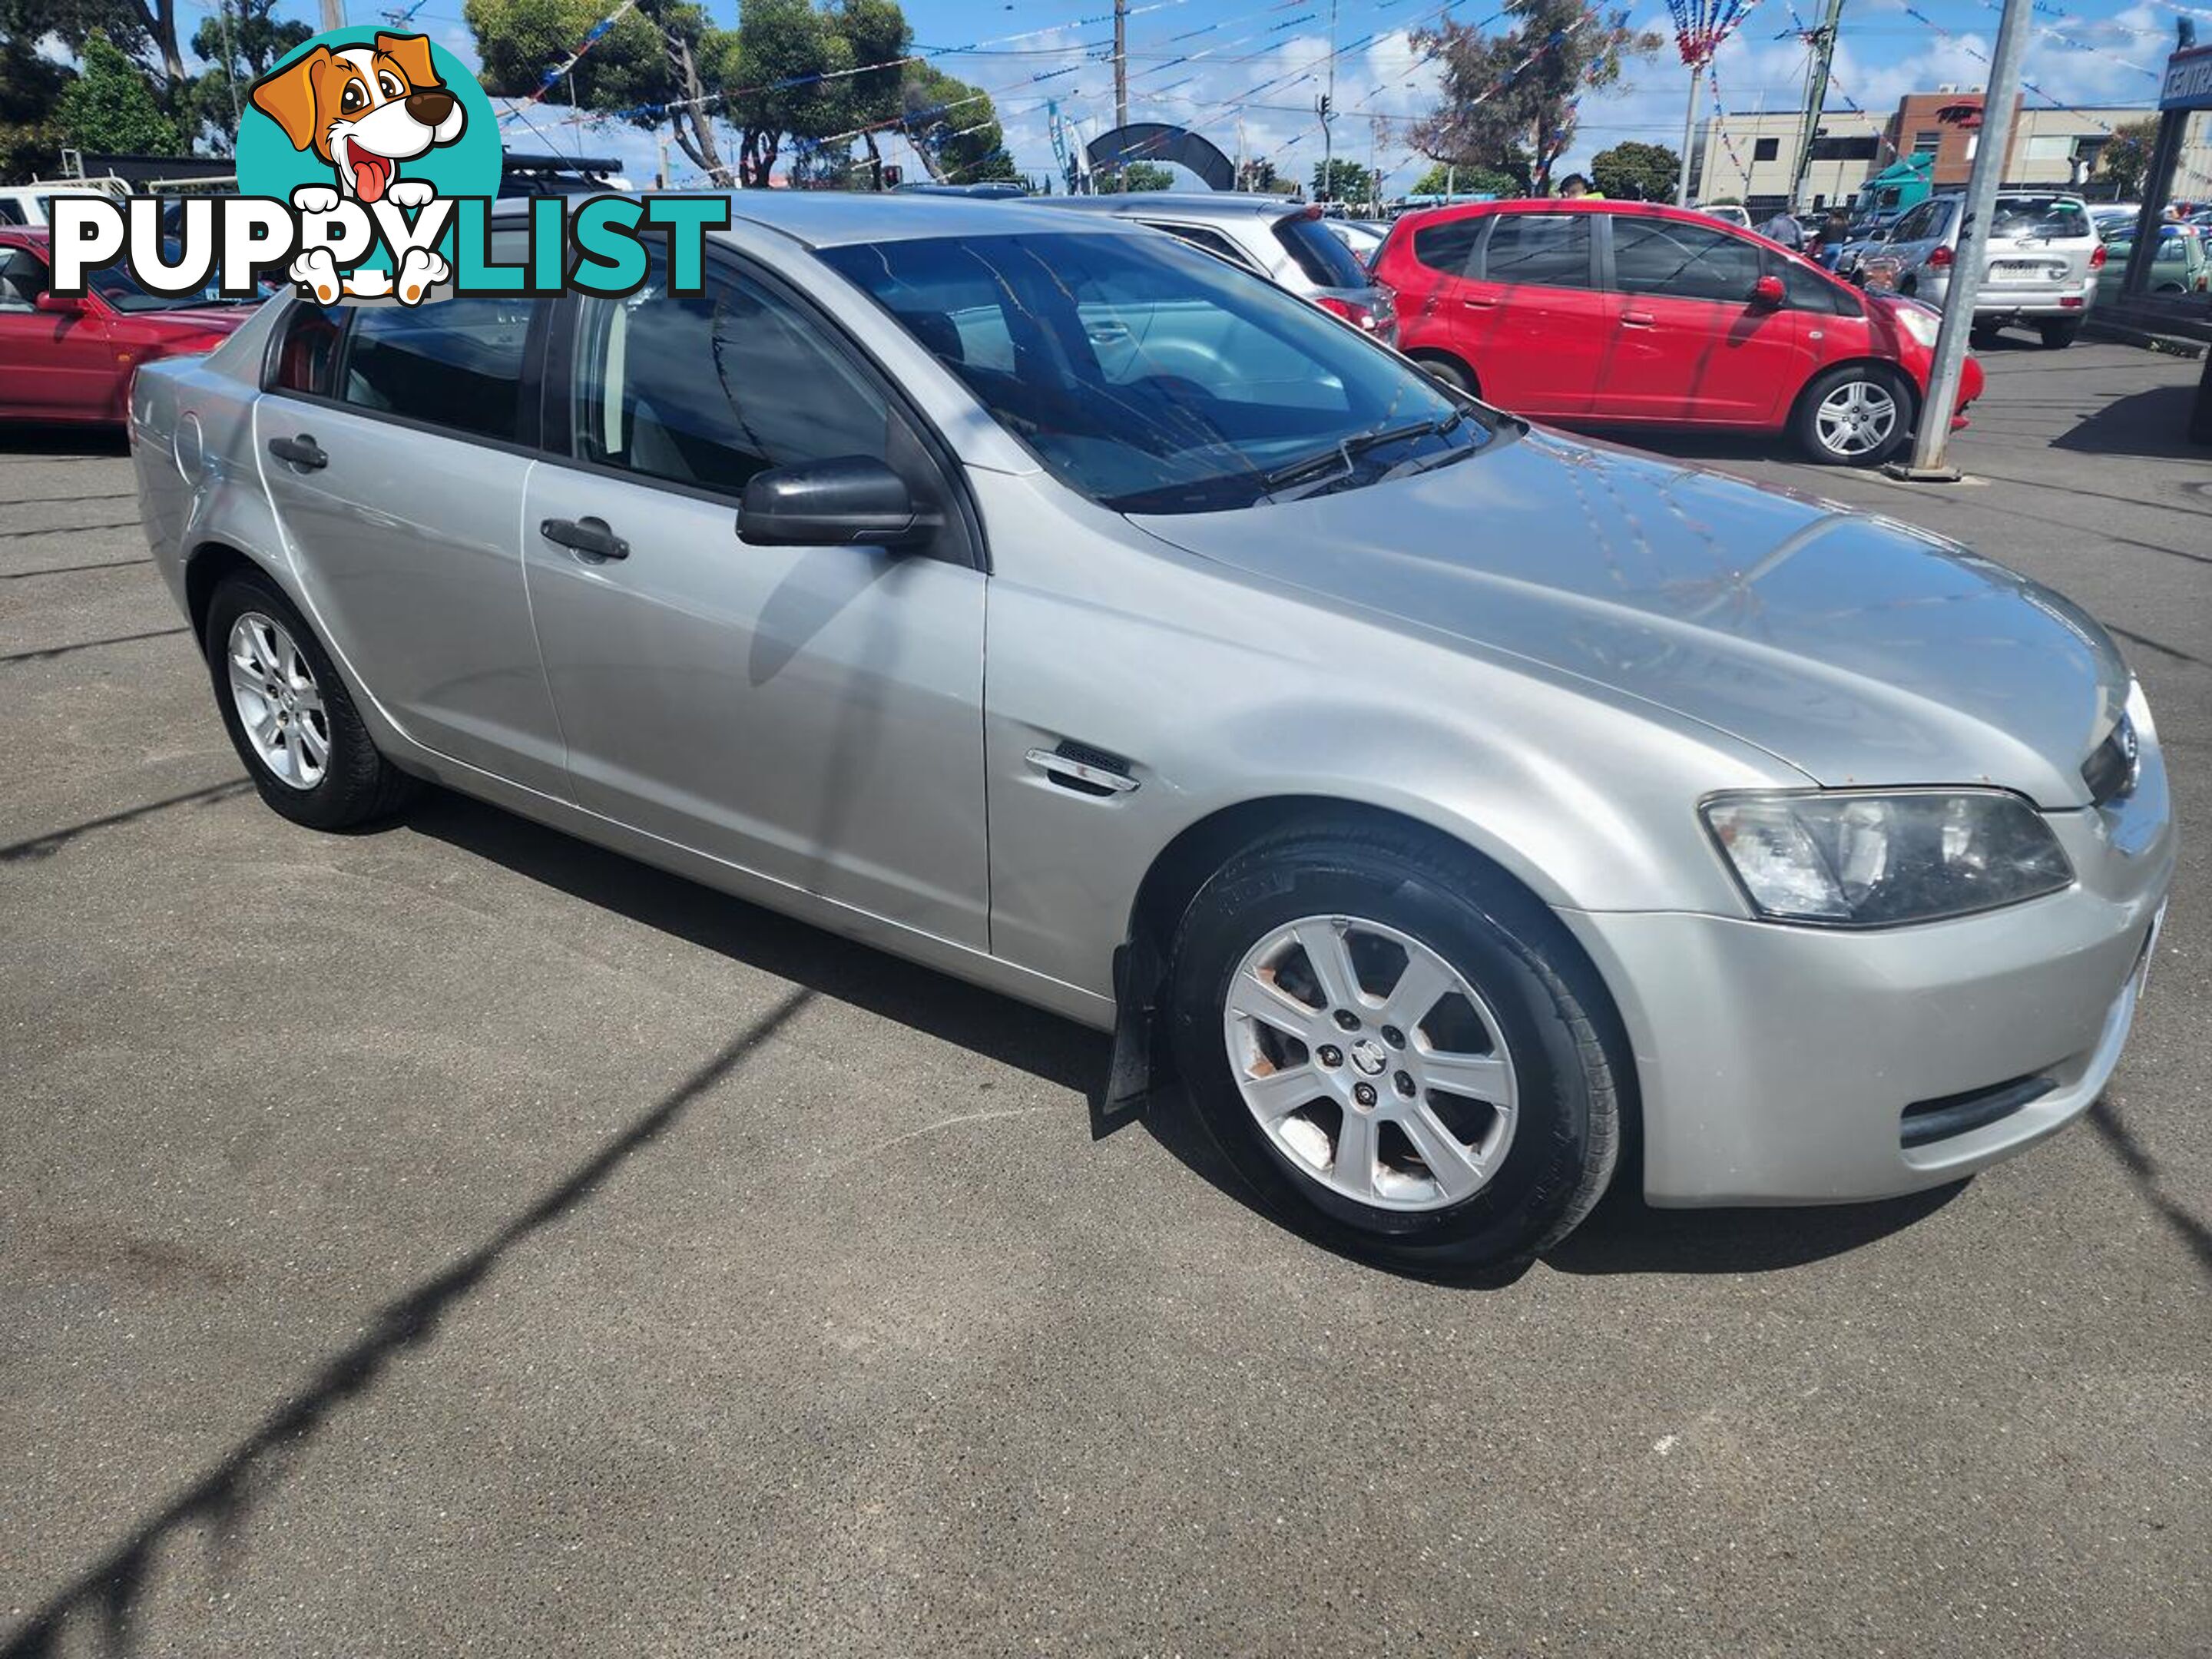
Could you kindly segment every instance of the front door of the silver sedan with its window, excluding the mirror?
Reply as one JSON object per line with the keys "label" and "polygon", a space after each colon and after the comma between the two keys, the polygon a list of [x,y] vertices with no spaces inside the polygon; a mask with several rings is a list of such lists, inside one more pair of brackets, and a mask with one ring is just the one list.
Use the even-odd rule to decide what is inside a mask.
{"label": "front door of the silver sedan with its window, excluding the mirror", "polygon": [[[677,299],[655,259],[639,292],[568,319],[522,531],[577,803],[984,947],[984,573],[918,418],[812,305],[734,261]],[[748,478],[854,453],[945,511],[936,546],[739,538]],[[624,553],[575,546],[586,522]]]}

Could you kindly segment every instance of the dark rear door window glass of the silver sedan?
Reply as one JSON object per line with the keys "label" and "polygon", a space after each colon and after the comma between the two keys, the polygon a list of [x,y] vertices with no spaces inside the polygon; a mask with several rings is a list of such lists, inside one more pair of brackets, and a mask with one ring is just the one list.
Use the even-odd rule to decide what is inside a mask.
{"label": "dark rear door window glass of the silver sedan", "polygon": [[520,431],[526,299],[363,305],[338,398],[429,427],[513,442]]}

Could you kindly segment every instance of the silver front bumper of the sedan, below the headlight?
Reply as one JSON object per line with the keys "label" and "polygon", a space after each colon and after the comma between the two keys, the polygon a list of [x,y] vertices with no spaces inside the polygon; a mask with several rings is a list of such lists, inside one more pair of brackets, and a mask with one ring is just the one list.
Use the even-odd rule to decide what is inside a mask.
{"label": "silver front bumper of the sedan, below the headlight", "polygon": [[[2051,814],[2064,894],[1843,931],[1679,911],[1564,920],[1615,989],[1657,1206],[1851,1203],[1973,1175],[2070,1124],[2128,1040],[2174,869],[2157,752],[2115,807]],[[2026,1104],[1907,1144],[1907,1108]],[[1971,1113],[1969,1113],[1971,1115]]]}

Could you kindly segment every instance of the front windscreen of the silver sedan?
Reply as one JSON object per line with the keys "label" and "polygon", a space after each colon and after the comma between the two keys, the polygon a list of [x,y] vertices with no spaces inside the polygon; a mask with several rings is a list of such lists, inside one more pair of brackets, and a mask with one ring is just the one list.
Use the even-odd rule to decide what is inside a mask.
{"label": "front windscreen of the silver sedan", "polygon": [[927,237],[818,257],[1115,511],[1250,507],[1491,438],[1316,305],[1166,239]]}

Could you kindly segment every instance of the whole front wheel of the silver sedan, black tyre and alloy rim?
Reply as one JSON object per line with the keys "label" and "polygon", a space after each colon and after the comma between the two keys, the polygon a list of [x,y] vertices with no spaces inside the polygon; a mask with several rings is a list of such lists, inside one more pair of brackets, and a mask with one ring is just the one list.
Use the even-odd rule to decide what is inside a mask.
{"label": "whole front wheel of the silver sedan, black tyre and alloy rim", "polygon": [[1608,1006],[1542,905],[1396,830],[1252,845],[1190,902],[1170,971],[1228,1164],[1321,1243],[1444,1276],[1535,1256],[1604,1194]]}

